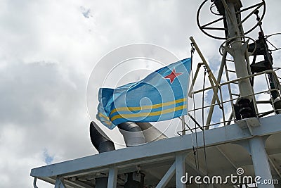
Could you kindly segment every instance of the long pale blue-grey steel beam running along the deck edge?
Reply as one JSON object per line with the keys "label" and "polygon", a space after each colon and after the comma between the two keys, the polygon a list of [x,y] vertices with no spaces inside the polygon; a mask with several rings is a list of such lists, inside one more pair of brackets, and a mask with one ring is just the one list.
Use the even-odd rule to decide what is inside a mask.
{"label": "long pale blue-grey steel beam running along the deck edge", "polygon": [[[226,127],[218,127],[205,131],[206,146],[226,144],[230,142],[251,139],[254,136],[264,136],[281,132],[281,115],[274,115],[260,119],[261,126],[253,127],[252,134],[249,130],[242,130],[237,124]],[[55,177],[58,175],[80,175],[91,170],[109,170],[111,165],[126,168],[132,164],[148,163],[149,161],[161,161],[161,158],[174,156],[177,152],[192,151],[192,137],[194,134],[187,134],[181,137],[159,140],[141,146],[133,146],[117,151],[108,151],[98,155],[77,158],[72,161],[65,161],[31,171],[32,177],[43,179],[44,177]],[[198,149],[204,146],[202,132],[197,132]],[[110,156],[111,160],[107,160]]]}

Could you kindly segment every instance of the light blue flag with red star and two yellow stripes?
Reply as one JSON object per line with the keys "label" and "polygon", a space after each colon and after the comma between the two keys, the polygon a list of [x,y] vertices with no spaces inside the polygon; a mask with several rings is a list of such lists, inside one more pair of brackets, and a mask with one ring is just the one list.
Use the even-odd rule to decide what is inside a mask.
{"label": "light blue flag with red star and two yellow stripes", "polygon": [[100,88],[98,114],[113,129],[124,122],[155,122],[187,114],[190,58],[172,63],[139,82],[116,89]]}

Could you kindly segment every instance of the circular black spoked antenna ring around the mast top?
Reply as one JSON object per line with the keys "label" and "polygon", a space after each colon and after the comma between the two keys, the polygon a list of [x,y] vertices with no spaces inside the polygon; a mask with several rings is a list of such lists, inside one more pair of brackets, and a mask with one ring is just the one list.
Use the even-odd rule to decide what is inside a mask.
{"label": "circular black spoked antenna ring around the mast top", "polygon": [[[209,4],[207,4],[207,1]],[[216,4],[216,1],[221,1],[221,4]],[[223,2],[226,1],[227,0],[215,0],[215,2],[211,2],[210,0],[204,0],[198,8],[197,25],[205,35],[214,39],[228,39],[225,37],[228,34],[228,28],[224,26],[226,25],[226,15]],[[245,3],[245,6],[237,8],[236,15],[241,15],[241,18],[239,18],[240,16],[237,16],[237,18],[239,18],[237,19],[238,26],[245,26],[244,35],[247,35],[254,30],[261,23],[266,13],[266,2],[264,0],[256,1],[258,2],[254,5],[248,5],[249,1],[243,2]],[[240,0],[237,0],[237,2],[240,2]],[[208,12],[209,14],[207,14]],[[255,14],[258,13],[261,13],[261,18],[257,21]],[[252,23],[254,22],[256,22],[256,24],[252,26]]]}

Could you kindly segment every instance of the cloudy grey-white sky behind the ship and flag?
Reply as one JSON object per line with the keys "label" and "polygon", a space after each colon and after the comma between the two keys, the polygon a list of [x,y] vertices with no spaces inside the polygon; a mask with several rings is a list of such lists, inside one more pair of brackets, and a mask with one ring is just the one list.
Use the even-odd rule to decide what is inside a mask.
{"label": "cloudy grey-white sky behind the ship and flag", "polygon": [[[103,75],[95,72],[96,82],[89,77],[100,59],[119,46],[154,44],[177,58],[187,58],[188,38],[193,36],[216,73],[223,41],[198,29],[200,4],[195,0],[1,0],[0,187],[32,187],[32,168],[97,152],[89,139],[89,123],[96,112],[88,114],[87,85],[96,91],[92,94],[96,99],[100,85],[95,83]],[[280,6],[279,0],[267,1],[263,21],[267,35],[281,31]],[[209,18],[208,14],[202,18]],[[249,36],[256,38],[256,30]],[[273,55],[281,67],[278,53]],[[106,63],[100,68],[110,71]],[[155,67],[146,62],[143,68]],[[138,72],[137,77],[147,72]],[[117,130],[114,134],[121,136]],[[53,187],[41,181],[37,185]]]}

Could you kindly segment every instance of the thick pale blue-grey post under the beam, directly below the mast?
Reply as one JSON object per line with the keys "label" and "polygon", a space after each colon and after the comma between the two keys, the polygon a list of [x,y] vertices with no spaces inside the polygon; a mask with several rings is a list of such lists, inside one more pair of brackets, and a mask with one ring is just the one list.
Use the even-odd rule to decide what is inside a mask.
{"label": "thick pale blue-grey post under the beam, directly below the mast", "polygon": [[[266,154],[266,145],[261,137],[249,139],[251,158],[254,164],[255,175],[260,176],[259,182],[263,180],[273,180]],[[259,188],[274,188],[273,184],[258,184]]]}

